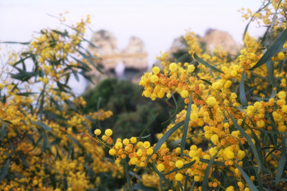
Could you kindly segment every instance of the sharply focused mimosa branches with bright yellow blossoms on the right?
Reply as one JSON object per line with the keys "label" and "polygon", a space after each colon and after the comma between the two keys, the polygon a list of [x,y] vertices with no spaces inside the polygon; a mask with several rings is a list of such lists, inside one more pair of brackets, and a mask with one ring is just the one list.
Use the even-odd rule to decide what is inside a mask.
{"label": "sharply focused mimosa branches with bright yellow blossoms on the right", "polygon": [[[273,7],[277,8],[277,1],[272,2]],[[286,5],[286,2],[282,2],[278,8],[286,9]],[[266,16],[253,14],[252,17],[266,22],[270,17],[270,9],[264,10]],[[284,30],[286,23],[278,23],[276,26],[276,31]],[[158,135],[161,143],[164,135],[188,118],[188,139],[185,147],[179,147],[186,128],[182,125],[167,140],[164,139],[166,142],[161,143],[157,150],[155,148],[159,143],[150,145],[148,141],[132,137],[117,139],[109,154],[116,158],[116,163],[128,159],[129,165],[135,166],[135,172],[154,165],[159,177],[164,176],[167,179],[166,183],[170,181],[171,185],[167,185],[168,188],[176,190],[190,189],[191,186],[193,190],[206,189],[203,188],[206,186],[203,183],[207,183],[207,186],[213,189],[247,191],[257,185],[260,190],[262,181],[269,188],[278,186],[279,189],[287,189],[286,179],[279,181],[277,178],[276,184],[273,181],[279,176],[279,168],[283,168],[280,174],[282,178],[287,174],[282,165],[286,161],[284,156],[281,156],[286,154],[286,67],[280,65],[280,62],[286,61],[286,53],[279,52],[272,58],[274,76],[279,81],[274,87],[268,80],[266,66],[249,70],[255,66],[264,52],[260,49],[261,42],[250,37],[248,33],[244,37],[245,47],[232,61],[228,61],[228,54],[220,48],[213,54],[202,53],[193,32],[187,32],[185,39],[188,57],[193,60],[191,63],[181,63],[180,58],[178,61],[169,61],[168,54],[164,53],[158,58],[162,68],[154,66],[139,82],[144,88],[143,96],[152,100],[170,99],[172,94],[178,93],[186,104],[192,102],[189,116],[186,116],[186,107],[177,114],[167,130]],[[286,47],[287,43],[283,48]],[[220,72],[201,64],[203,61],[200,61],[197,55]],[[243,75],[245,77],[242,77]],[[239,92],[242,91],[241,80],[244,80],[244,94]],[[276,94],[272,94],[274,91]],[[247,105],[243,104],[242,94],[248,100]],[[187,147],[189,149],[186,149]],[[211,165],[210,171],[206,171],[208,165]],[[247,167],[253,170],[248,174],[249,179],[242,174],[245,171],[242,169]],[[261,168],[259,172],[258,168]],[[264,172],[262,168],[268,168],[273,173]],[[207,181],[204,181],[206,173]],[[144,174],[144,177],[148,179],[147,174]],[[142,183],[149,185],[145,181]],[[159,189],[160,184],[152,187]]]}

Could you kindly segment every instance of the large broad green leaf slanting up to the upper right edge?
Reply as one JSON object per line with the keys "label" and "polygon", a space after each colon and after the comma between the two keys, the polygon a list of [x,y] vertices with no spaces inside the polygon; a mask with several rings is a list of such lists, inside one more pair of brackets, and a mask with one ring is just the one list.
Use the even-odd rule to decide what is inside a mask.
{"label": "large broad green leaf slanting up to the upper right edge", "polygon": [[254,70],[255,68],[258,68],[259,66],[263,65],[267,61],[269,61],[275,54],[278,52],[281,52],[282,47],[284,43],[287,40],[287,28],[281,32],[279,37],[274,41],[274,43],[270,46],[270,48],[263,54],[261,59],[253,66],[253,68],[250,68],[248,70]]}

